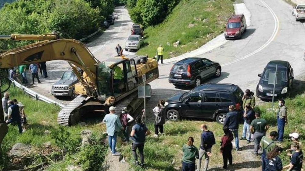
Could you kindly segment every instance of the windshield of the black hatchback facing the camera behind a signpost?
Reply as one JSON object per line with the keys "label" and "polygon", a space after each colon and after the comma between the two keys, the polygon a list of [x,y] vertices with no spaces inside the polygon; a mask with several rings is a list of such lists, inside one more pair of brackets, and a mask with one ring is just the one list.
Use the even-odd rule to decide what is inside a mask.
{"label": "windshield of the black hatchback facing the camera behind a signpost", "polygon": [[[264,81],[269,81],[270,78],[274,78],[275,74],[275,68],[266,68],[264,75],[262,76],[262,79]],[[276,84],[281,84],[282,82],[287,82],[287,71],[283,69],[277,70],[277,79]]]}

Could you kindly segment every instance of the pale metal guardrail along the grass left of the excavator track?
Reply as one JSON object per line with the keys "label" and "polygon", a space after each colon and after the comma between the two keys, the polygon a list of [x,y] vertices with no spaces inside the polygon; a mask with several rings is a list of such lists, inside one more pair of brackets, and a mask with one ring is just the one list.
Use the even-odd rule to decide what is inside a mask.
{"label": "pale metal guardrail along the grass left of the excavator track", "polygon": [[25,93],[27,93],[27,94],[29,94],[29,95],[35,97],[35,99],[36,99],[37,101],[38,101],[38,100],[41,100],[41,101],[47,102],[47,103],[49,103],[49,104],[55,104],[55,105],[59,106],[60,108],[65,107],[65,105],[63,105],[63,104],[61,104],[61,103],[58,103],[57,101],[54,101],[54,100],[52,100],[52,99],[49,99],[48,97],[45,97],[45,96],[43,96],[43,95],[41,95],[41,94],[38,94],[38,93],[36,93],[35,91],[30,90],[29,88],[27,88],[27,87],[23,86],[22,84],[18,83],[17,81],[13,81],[13,86],[18,87],[18,88],[22,89],[23,92],[25,92]]}

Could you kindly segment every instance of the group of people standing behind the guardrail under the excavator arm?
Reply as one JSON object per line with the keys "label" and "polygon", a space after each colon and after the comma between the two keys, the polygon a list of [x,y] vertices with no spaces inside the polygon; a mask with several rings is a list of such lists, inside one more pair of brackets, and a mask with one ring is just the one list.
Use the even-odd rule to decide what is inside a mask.
{"label": "group of people standing behind the guardrail under the excavator arm", "polygon": [[[38,70],[40,70],[41,76],[48,78],[46,62],[31,63],[28,68],[32,75],[32,84],[34,84],[34,78],[37,79],[38,84],[41,84],[38,76]],[[16,72],[16,70],[18,72]],[[19,76],[22,78],[22,81],[18,78]],[[16,80],[19,83],[28,84],[27,65],[20,65],[17,69],[14,69],[13,67],[10,68],[9,80]]]}

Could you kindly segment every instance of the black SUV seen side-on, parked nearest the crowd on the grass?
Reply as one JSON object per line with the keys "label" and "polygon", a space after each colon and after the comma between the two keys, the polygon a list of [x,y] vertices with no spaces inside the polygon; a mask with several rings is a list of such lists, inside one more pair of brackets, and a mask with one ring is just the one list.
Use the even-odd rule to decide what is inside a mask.
{"label": "black SUV seen side-on, parked nearest the crowd on the grass", "polygon": [[223,123],[229,105],[241,106],[242,90],[234,84],[201,84],[189,92],[172,95],[166,101],[167,118],[213,119]]}

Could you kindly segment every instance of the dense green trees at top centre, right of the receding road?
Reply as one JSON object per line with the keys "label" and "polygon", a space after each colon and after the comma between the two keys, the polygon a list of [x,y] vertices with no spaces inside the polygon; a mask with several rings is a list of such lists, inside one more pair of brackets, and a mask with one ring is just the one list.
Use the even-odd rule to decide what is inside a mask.
{"label": "dense green trees at top centre, right of the receding road", "polygon": [[148,27],[161,23],[179,2],[180,0],[127,0],[126,4],[131,19]]}

